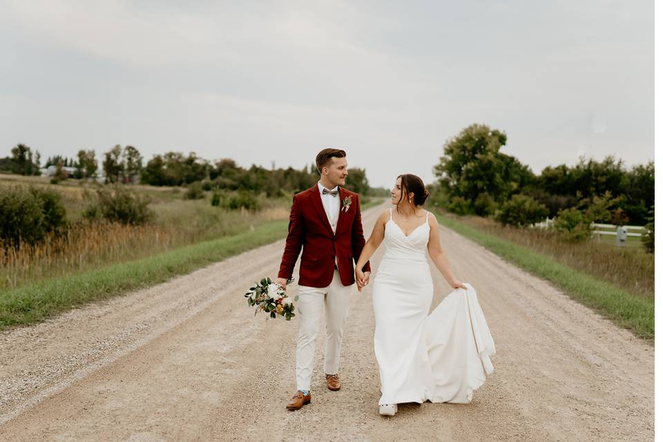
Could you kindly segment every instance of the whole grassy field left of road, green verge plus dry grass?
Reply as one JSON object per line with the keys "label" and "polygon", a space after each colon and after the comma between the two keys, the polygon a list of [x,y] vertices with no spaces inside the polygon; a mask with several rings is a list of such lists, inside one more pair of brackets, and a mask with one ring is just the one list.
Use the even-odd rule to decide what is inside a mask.
{"label": "whole grassy field left of road, green verge plus dry grass", "polygon": [[[260,209],[212,206],[211,195],[182,198],[178,187],[132,186],[151,198],[144,226],[88,222],[82,213],[98,184],[0,175],[0,186],[56,189],[71,228],[44,243],[0,247],[0,328],[28,324],[88,300],[147,287],[236,253],[284,238],[291,200],[260,196]],[[368,200],[363,209],[381,199]],[[275,269],[276,269],[275,264]]]}

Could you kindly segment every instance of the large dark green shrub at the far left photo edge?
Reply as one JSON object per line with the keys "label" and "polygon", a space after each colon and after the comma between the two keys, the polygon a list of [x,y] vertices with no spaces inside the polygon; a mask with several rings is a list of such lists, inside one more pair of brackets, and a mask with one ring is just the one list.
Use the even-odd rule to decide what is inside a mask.
{"label": "large dark green shrub at the far left photo edge", "polygon": [[0,240],[18,247],[35,244],[46,233],[66,226],[61,195],[45,189],[12,186],[0,188]]}

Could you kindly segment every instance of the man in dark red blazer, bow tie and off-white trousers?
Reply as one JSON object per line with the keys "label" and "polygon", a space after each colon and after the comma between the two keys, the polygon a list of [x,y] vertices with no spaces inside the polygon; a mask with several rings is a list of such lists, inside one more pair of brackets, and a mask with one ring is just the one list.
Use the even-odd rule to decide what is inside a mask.
{"label": "man in dark red blazer, bow tie and off-white trousers", "polygon": [[[325,309],[325,377],[329,390],[340,389],[338,359],[343,339],[343,322],[354,284],[354,260],[364,247],[359,195],[343,189],[347,177],[345,151],[327,148],[318,153],[316,166],[320,181],[292,198],[285,251],[278,271],[278,283],[285,289],[299,252],[298,309],[299,335],[296,350],[297,393],[287,404],[299,410],[311,402],[311,372],[320,316]],[[370,272],[367,262],[363,271]],[[368,273],[366,273],[367,275]],[[364,287],[367,278],[357,281]]]}

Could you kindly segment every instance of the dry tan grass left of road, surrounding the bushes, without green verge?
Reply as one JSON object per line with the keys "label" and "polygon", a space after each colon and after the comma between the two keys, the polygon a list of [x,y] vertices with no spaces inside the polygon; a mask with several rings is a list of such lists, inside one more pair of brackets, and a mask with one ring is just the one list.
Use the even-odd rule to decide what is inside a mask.
{"label": "dry tan grass left of road, surrounding the bushes, without green verge", "polygon": [[64,235],[51,235],[40,244],[9,247],[0,243],[0,289],[251,231],[263,222],[289,216],[289,201],[285,199],[262,199],[262,210],[256,212],[229,211],[211,206],[206,199],[182,200],[179,188],[133,186],[134,191],[150,196],[150,208],[156,213],[154,224],[140,227],[89,222],[81,213],[97,199],[97,184],[64,183],[53,185],[44,177],[0,175],[0,186],[29,184],[57,190],[70,222]]}

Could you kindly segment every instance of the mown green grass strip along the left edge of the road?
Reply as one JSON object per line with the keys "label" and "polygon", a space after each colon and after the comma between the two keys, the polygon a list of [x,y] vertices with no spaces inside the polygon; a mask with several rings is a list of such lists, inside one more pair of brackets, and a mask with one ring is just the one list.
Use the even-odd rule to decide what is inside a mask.
{"label": "mown green grass strip along the left edge of the road", "polygon": [[271,221],[255,231],[0,291],[0,329],[36,323],[75,305],[164,282],[284,238],[286,233],[287,220]]}

